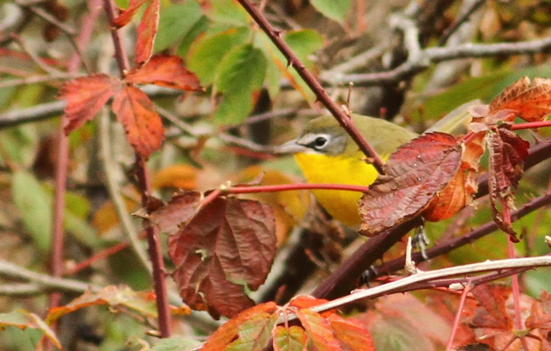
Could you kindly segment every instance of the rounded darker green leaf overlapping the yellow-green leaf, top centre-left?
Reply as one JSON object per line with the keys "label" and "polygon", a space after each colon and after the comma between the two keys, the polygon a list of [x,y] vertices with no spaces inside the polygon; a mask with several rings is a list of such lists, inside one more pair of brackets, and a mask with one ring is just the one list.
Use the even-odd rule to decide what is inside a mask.
{"label": "rounded darker green leaf overlapping the yellow-green leaf, top centre-left", "polygon": [[260,49],[251,44],[235,47],[220,62],[216,81],[218,91],[227,94],[250,94],[262,88],[266,66],[266,57]]}

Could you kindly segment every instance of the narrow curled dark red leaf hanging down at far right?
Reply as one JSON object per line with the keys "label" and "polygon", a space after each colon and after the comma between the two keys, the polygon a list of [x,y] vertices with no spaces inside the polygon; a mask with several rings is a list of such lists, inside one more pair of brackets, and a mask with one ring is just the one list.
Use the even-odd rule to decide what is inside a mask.
{"label": "narrow curled dark red leaf hanging down at far right", "polygon": [[517,240],[509,218],[504,219],[499,213],[497,202],[512,207],[512,188],[518,186],[530,143],[505,128],[494,128],[487,133],[487,138],[491,213],[499,228]]}

